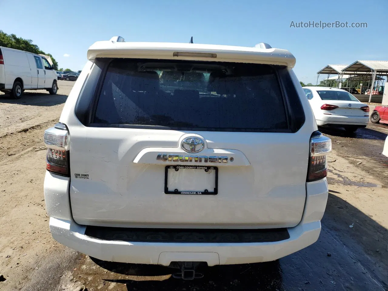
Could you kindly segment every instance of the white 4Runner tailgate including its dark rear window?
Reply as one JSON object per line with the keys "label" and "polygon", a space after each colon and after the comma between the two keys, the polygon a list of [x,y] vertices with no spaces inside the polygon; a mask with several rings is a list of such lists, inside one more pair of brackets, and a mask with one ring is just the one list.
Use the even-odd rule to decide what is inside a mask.
{"label": "white 4Runner tailgate including its dark rear window", "polygon": [[[101,88],[85,97],[93,107],[89,121],[77,107],[81,122],[64,120],[77,223],[272,228],[300,222],[313,126],[302,126],[303,107],[285,66],[114,59],[100,68],[107,71]],[[185,194],[166,194],[166,186]],[[217,193],[206,193],[213,186]]]}

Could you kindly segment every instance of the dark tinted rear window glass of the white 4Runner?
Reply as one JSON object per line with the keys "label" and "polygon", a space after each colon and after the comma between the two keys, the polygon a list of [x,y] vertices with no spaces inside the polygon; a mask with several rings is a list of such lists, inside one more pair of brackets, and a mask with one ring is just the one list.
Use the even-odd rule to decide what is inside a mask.
{"label": "dark tinted rear window glass of the white 4Runner", "polygon": [[284,131],[289,123],[277,67],[113,59],[91,121],[95,126]]}

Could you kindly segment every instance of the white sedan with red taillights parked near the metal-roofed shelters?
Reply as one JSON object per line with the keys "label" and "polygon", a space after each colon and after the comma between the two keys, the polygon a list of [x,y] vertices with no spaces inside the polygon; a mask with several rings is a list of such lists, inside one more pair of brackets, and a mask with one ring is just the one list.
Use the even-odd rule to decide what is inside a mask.
{"label": "white sedan with red taillights parked near the metal-roofed shelters", "polygon": [[366,127],[369,106],[349,92],[329,87],[303,87],[318,126],[343,127],[347,132]]}

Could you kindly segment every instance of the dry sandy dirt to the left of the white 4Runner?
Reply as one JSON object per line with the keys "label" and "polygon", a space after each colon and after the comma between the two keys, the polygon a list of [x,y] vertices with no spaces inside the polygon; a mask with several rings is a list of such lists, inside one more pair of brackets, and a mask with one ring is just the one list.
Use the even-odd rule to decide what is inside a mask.
{"label": "dry sandy dirt to the left of the white 4Runner", "polygon": [[20,100],[0,95],[0,275],[6,279],[0,282],[2,290],[20,289],[49,253],[64,249],[48,227],[42,137],[59,119],[73,83],[58,81],[58,95],[44,90],[26,91]]}

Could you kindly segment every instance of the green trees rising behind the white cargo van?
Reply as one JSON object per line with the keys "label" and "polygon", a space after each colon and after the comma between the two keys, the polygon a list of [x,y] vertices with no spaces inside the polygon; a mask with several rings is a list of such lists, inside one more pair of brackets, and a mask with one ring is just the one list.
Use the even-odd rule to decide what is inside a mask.
{"label": "green trees rising behind the white cargo van", "polygon": [[17,37],[14,34],[8,35],[7,33],[0,30],[0,46],[1,47],[9,47],[10,49],[24,50],[26,52],[32,52],[33,54],[42,54],[49,55],[53,68],[58,69],[58,62],[55,61],[54,57],[51,54],[46,54],[43,50],[39,49],[39,47],[32,43],[32,40],[26,40],[21,37]]}

